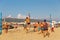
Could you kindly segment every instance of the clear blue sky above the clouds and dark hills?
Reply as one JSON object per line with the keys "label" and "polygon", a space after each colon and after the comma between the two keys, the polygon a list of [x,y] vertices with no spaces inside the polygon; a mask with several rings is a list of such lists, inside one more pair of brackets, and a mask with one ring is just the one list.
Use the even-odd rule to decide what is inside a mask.
{"label": "clear blue sky above the clouds and dark hills", "polygon": [[3,17],[30,12],[31,17],[49,18],[51,13],[53,19],[60,19],[60,0],[0,0],[0,11]]}

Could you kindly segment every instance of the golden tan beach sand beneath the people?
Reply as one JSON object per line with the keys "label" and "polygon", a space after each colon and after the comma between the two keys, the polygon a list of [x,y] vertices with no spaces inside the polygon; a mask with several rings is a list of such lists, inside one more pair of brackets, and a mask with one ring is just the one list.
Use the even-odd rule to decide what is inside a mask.
{"label": "golden tan beach sand beneath the people", "polygon": [[2,33],[0,35],[0,40],[60,40],[60,28],[55,28],[55,32],[50,32],[49,37],[43,37],[42,34],[38,34],[38,32],[29,32],[23,30],[23,27],[19,27],[19,29],[9,29],[9,32]]}

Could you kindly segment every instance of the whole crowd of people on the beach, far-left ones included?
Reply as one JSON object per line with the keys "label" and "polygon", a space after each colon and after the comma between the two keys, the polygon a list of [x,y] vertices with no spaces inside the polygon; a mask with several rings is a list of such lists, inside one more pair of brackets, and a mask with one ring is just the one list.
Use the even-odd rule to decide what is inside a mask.
{"label": "whole crowd of people on the beach, far-left ones included", "polygon": [[[47,23],[46,19],[44,19],[43,22],[36,21],[32,25],[33,25],[34,32],[39,32],[40,34],[43,34],[44,37],[45,36],[49,37],[50,33],[48,31],[49,30],[48,28],[50,27],[50,25]],[[5,30],[5,33],[8,33],[9,26],[10,24],[8,23],[3,24],[3,29]],[[17,26],[18,24],[16,24],[14,28],[16,29]],[[31,27],[30,17],[26,17],[24,30],[26,30],[26,32],[28,33],[30,30],[30,27]],[[54,22],[52,23],[51,32],[54,32]]]}

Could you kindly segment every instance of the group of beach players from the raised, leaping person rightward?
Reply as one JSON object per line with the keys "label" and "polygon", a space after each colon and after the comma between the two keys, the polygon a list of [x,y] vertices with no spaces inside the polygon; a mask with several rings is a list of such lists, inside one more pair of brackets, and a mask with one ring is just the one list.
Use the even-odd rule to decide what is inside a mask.
{"label": "group of beach players from the raised, leaping person rightward", "polygon": [[[26,24],[25,24],[24,29],[26,29],[26,31],[28,32],[29,29],[30,29],[30,27],[31,27],[31,23],[30,23],[30,18],[29,17],[26,17],[25,23]],[[33,26],[34,26],[33,31],[34,32],[42,33],[44,37],[45,36],[48,36],[49,37],[50,33],[49,33],[48,30],[49,30],[49,27],[50,27],[51,28],[51,32],[54,32],[54,22],[52,22],[51,25],[52,26],[50,27],[50,24],[47,23],[46,19],[44,19],[43,22],[39,22],[38,21],[38,22],[35,22],[33,24]]]}

